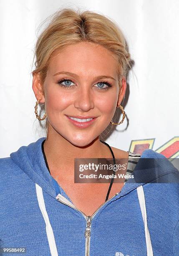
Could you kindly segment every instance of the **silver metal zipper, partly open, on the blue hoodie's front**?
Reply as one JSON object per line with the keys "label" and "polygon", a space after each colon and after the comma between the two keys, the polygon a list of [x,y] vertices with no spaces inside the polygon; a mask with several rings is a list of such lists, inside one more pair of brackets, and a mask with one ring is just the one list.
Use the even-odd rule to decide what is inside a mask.
{"label": "silver metal zipper, partly open, on the blue hoodie's front", "polygon": [[86,237],[86,245],[85,245],[85,256],[89,256],[89,251],[90,251],[90,236],[91,236],[91,221],[92,219],[94,218],[94,216],[96,215],[96,213],[98,212],[98,210],[101,209],[101,207],[103,207],[103,205],[105,205],[108,201],[110,201],[111,199],[113,199],[114,197],[116,197],[116,195],[118,195],[118,193],[116,193],[113,197],[111,197],[110,199],[108,199],[106,202],[103,202],[102,205],[100,205],[98,207],[98,209],[93,213],[93,215],[91,216],[87,216],[84,212],[82,212],[81,210],[79,210],[78,208],[76,207],[73,207],[71,205],[69,205],[68,203],[66,202],[63,202],[63,200],[61,200],[60,198],[58,198],[58,195],[56,197],[56,199],[61,202],[62,204],[64,205],[68,205],[69,207],[77,210],[78,212],[81,212],[81,214],[84,216],[84,218],[86,219],[86,229],[85,229],[85,232],[84,232],[84,236]]}

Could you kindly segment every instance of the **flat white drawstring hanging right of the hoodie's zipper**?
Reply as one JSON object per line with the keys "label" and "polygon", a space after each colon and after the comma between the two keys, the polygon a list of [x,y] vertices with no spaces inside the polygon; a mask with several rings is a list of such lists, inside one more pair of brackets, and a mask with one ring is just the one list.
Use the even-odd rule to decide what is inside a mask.
{"label": "flat white drawstring hanging right of the hoodie's zipper", "polygon": [[146,214],[146,203],[144,197],[144,189],[142,186],[137,187],[137,194],[139,198],[139,204],[141,207],[142,218],[144,221],[144,228],[145,228],[145,237],[146,237],[146,246],[147,246],[147,256],[153,256],[152,246],[151,246],[151,239],[150,233],[147,226],[147,214]]}

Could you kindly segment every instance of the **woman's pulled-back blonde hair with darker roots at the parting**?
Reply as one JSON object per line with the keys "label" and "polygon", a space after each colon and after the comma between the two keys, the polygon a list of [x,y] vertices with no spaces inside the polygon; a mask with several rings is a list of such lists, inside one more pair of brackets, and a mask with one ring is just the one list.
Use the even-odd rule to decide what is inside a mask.
{"label": "woman's pulled-back blonde hair with darker roots at the parting", "polygon": [[[118,84],[121,88],[122,77],[126,77],[131,69],[131,60],[124,35],[115,22],[99,13],[88,10],[80,12],[71,8],[58,10],[44,23],[47,20],[49,24],[35,45],[35,70],[32,72],[39,72],[42,83],[55,54],[66,46],[86,41],[101,45],[114,54],[118,61]],[[47,122],[46,118],[46,132]]]}

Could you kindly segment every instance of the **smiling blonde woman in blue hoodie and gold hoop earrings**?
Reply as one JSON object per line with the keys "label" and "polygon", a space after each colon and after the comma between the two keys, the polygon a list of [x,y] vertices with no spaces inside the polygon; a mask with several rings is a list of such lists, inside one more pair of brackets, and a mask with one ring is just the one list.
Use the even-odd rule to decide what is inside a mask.
{"label": "smiling blonde woman in blue hoodie and gold hoop earrings", "polygon": [[[0,159],[0,246],[30,256],[179,255],[179,184],[163,184],[179,179],[177,170],[151,149],[140,156],[99,139],[125,118],[131,65],[120,29],[98,13],[63,9],[35,57],[35,114],[47,136]],[[75,183],[77,158],[127,159],[126,174],[138,182]]]}

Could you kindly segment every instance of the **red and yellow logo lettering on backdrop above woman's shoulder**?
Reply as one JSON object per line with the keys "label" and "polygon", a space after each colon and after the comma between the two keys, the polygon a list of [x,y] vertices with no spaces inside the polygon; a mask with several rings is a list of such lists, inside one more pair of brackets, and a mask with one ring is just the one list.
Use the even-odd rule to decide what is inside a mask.
{"label": "red and yellow logo lettering on backdrop above woman's shoulder", "polygon": [[[129,147],[129,151],[142,154],[145,149],[153,149],[155,138],[133,140]],[[159,148],[155,149],[157,153],[164,155],[166,158],[177,158],[179,156],[179,137],[173,137],[166,141]]]}

